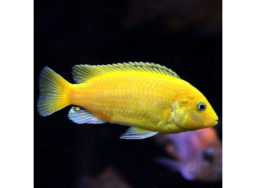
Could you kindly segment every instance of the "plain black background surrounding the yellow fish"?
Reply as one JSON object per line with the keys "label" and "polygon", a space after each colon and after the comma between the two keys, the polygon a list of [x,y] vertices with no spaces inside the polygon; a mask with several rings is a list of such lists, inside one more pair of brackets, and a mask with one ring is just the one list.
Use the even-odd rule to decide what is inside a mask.
{"label": "plain black background surrounding the yellow fish", "polygon": [[219,117],[222,138],[222,1],[34,1],[34,186],[80,188],[81,177],[107,166],[135,188],[221,187],[187,181],[152,162],[163,154],[151,138],[119,139],[126,127],[78,125],[69,107],[37,112],[43,66],[74,83],[73,65],[153,62],[201,91]]}

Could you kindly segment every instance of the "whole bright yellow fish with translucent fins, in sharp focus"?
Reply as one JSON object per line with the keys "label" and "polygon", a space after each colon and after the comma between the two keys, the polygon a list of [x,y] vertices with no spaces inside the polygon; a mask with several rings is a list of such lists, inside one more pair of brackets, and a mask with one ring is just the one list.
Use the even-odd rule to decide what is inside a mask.
{"label": "whole bright yellow fish with translucent fins, in sharp focus", "polygon": [[144,139],[209,128],[218,117],[207,99],[171,69],[155,63],[75,65],[64,80],[44,67],[37,109],[48,116],[67,105],[75,123],[116,123],[130,128],[123,139]]}

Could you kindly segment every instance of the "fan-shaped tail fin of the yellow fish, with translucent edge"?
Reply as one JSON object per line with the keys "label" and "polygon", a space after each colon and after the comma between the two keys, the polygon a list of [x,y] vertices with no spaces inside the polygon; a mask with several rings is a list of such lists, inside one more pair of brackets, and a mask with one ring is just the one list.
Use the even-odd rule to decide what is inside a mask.
{"label": "fan-shaped tail fin of the yellow fish, with translucent edge", "polygon": [[48,116],[69,105],[71,83],[64,80],[49,67],[43,67],[39,76],[39,98],[37,110],[41,116]]}

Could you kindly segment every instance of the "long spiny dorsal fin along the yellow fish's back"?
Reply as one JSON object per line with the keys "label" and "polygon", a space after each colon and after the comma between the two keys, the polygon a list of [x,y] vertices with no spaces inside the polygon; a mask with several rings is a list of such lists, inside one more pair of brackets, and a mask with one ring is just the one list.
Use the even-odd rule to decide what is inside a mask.
{"label": "long spiny dorsal fin along the yellow fish's back", "polygon": [[143,63],[143,62],[129,62],[129,63],[117,63],[112,65],[75,65],[73,67],[73,79],[76,83],[84,83],[87,80],[107,74],[110,72],[153,72],[158,74],[165,74],[175,78],[180,78],[171,69],[167,69],[165,66],[161,66],[155,63]]}

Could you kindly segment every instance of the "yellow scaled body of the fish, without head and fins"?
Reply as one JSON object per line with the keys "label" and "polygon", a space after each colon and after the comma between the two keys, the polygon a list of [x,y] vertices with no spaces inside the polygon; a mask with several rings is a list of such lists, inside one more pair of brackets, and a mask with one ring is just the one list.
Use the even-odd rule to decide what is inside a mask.
{"label": "yellow scaled body of the fish, without head and fins", "polygon": [[154,130],[160,120],[144,105],[167,109],[175,98],[170,90],[173,79],[177,78],[148,72],[110,73],[73,85],[70,101],[109,123]]}

